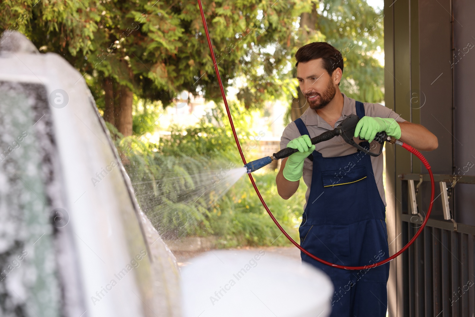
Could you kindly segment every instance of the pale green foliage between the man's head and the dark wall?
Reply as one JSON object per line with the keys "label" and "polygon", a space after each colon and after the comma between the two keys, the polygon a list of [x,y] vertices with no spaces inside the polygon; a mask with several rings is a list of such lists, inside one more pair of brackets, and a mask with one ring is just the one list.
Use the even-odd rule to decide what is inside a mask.
{"label": "pale green foliage between the man's head and the dark wall", "polygon": [[342,52],[340,89],[356,100],[382,101],[384,69],[373,54],[384,48],[384,14],[365,0],[323,0],[317,12],[318,29]]}

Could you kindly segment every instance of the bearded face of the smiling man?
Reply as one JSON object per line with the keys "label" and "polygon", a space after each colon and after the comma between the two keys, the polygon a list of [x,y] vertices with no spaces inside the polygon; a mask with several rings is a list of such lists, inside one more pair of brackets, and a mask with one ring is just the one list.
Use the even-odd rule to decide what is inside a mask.
{"label": "bearded face of the smiling man", "polygon": [[330,76],[322,66],[322,58],[298,64],[297,79],[310,108],[322,109],[333,100],[341,78],[341,74],[335,74],[339,69]]}

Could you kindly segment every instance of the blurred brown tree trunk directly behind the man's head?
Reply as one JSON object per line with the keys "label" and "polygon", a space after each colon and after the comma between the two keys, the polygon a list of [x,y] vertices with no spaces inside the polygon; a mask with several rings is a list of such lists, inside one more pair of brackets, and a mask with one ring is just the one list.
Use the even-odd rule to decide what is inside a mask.
{"label": "blurred brown tree trunk directly behind the man's head", "polygon": [[[312,4],[312,12],[304,12],[300,15],[300,28],[303,29],[303,35],[301,36],[300,41],[305,45],[309,43],[309,38],[315,33],[315,25],[317,23],[317,7],[316,4]],[[308,30],[308,31],[307,31]],[[295,73],[297,70],[295,70]],[[296,74],[295,74],[296,77]],[[300,91],[300,87],[297,86],[298,99],[294,98],[292,100],[292,111],[291,117],[292,121],[295,121],[301,115],[304,114],[305,110],[308,108],[307,98]]]}

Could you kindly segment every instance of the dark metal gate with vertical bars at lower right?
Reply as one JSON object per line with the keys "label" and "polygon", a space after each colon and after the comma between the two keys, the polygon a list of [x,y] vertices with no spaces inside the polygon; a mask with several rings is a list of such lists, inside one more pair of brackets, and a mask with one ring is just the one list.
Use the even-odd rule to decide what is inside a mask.
{"label": "dark metal gate with vertical bars at lower right", "polygon": [[[405,245],[422,223],[415,196],[428,174],[401,174],[401,236]],[[444,206],[444,220],[429,218],[426,227],[402,257],[403,316],[475,316],[475,227],[456,223],[448,199],[456,183],[475,184],[475,176],[434,175]],[[447,186],[448,184],[448,186]],[[436,192],[437,193],[437,192]],[[474,206],[475,207],[475,206]],[[475,209],[475,208],[474,208]],[[474,210],[475,212],[475,210]]]}

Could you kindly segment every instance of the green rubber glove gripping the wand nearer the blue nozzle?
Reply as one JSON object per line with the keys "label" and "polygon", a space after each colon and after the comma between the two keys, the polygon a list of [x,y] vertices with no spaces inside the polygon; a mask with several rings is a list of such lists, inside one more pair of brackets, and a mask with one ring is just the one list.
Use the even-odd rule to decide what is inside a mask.
{"label": "green rubber glove gripping the wand nearer the blue nozzle", "polygon": [[305,134],[291,140],[287,147],[297,149],[298,152],[289,156],[282,174],[287,181],[296,182],[304,174],[304,160],[314,152],[315,145],[310,141],[310,137]]}

